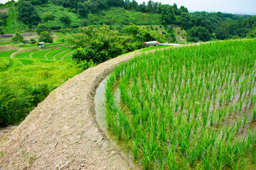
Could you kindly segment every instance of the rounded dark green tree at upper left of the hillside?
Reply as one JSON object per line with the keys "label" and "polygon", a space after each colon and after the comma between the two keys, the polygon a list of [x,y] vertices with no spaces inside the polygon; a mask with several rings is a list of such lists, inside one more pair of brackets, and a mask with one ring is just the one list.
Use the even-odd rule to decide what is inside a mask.
{"label": "rounded dark green tree at upper left of the hillside", "polygon": [[28,25],[38,25],[41,21],[36,8],[28,1],[21,1],[18,4],[18,19]]}

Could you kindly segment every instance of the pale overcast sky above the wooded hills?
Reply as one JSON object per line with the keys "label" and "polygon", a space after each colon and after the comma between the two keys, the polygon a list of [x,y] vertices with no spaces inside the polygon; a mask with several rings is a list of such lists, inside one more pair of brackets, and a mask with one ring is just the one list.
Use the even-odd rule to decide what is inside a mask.
{"label": "pale overcast sky above the wooded hills", "polygon": [[[0,0],[4,4],[9,0]],[[17,0],[16,0],[17,1]],[[131,0],[132,1],[132,0]],[[139,4],[143,1],[136,0]],[[178,7],[186,6],[188,11],[208,11],[208,12],[225,12],[225,13],[249,13],[256,15],[256,0],[153,0],[161,4],[173,5],[176,3]]]}

